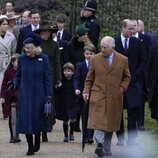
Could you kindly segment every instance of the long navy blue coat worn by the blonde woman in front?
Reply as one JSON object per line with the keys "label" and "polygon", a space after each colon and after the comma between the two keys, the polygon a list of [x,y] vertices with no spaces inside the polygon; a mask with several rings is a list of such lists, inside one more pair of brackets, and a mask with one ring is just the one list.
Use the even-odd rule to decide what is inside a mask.
{"label": "long navy blue coat worn by the blonde woman in front", "polygon": [[19,89],[18,132],[35,134],[45,130],[44,104],[46,96],[52,95],[48,57],[21,55],[14,84]]}

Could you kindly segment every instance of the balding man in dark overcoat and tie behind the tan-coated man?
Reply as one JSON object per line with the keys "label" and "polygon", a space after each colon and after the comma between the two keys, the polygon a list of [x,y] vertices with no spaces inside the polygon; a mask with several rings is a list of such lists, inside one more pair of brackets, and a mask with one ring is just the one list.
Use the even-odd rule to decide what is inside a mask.
{"label": "balding man in dark overcoat and tie behind the tan-coated man", "polygon": [[[124,106],[128,115],[128,145],[136,144],[138,108],[141,106],[140,79],[143,75],[146,58],[143,54],[143,46],[139,39],[132,37],[134,26],[131,20],[125,19],[122,24],[121,35],[115,38],[115,50],[128,57],[131,81],[124,95]],[[117,131],[118,145],[124,143],[123,119],[120,130]]]}

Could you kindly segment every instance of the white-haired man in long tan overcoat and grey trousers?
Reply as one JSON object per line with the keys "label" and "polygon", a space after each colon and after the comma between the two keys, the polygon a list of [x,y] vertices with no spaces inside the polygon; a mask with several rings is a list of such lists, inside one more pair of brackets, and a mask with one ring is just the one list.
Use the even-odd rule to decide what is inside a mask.
{"label": "white-haired man in long tan overcoat and grey trousers", "polygon": [[88,128],[104,131],[104,143],[98,144],[99,157],[111,155],[112,133],[120,128],[123,93],[130,82],[128,59],[117,53],[110,36],[101,40],[101,53],[91,59],[83,98],[89,100]]}

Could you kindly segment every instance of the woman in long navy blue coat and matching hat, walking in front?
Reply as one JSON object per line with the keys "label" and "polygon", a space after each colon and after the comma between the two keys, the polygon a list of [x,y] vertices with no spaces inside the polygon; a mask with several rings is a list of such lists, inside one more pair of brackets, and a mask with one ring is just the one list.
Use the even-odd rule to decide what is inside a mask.
{"label": "woman in long navy blue coat and matching hat, walking in front", "polygon": [[14,80],[15,88],[19,89],[17,128],[26,135],[27,155],[33,155],[40,148],[40,132],[47,128],[44,104],[51,99],[52,85],[48,57],[41,54],[39,35],[31,33],[23,43],[25,54],[19,57]]}

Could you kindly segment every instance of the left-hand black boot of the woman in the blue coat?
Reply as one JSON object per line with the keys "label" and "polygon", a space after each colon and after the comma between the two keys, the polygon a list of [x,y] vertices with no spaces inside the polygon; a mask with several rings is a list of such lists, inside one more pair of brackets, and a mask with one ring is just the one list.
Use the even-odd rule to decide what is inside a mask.
{"label": "left-hand black boot of the woman in the blue coat", "polygon": [[27,151],[26,155],[34,155],[32,134],[26,134],[26,140],[28,143],[28,151]]}

